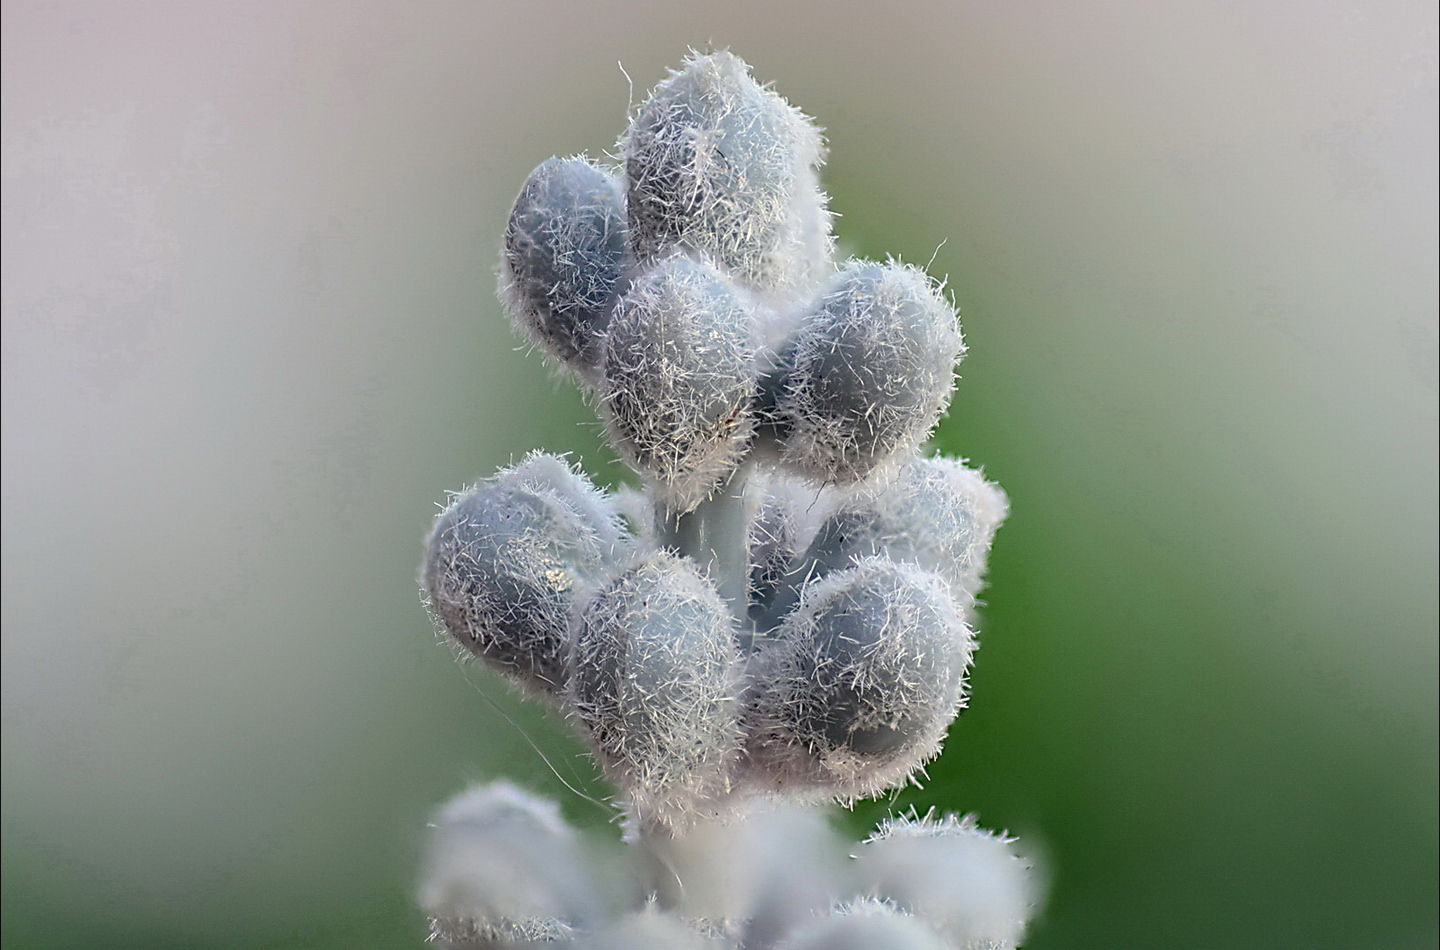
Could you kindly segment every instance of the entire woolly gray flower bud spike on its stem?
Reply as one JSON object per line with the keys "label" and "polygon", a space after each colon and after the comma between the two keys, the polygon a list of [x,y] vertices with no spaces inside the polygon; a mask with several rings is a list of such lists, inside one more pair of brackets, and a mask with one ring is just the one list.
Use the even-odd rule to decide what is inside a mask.
{"label": "entire woolly gray flower bud spike on its stem", "polygon": [[[893,822],[851,871],[798,810],[900,786],[939,753],[1007,512],[979,472],[920,455],[965,351],[955,311],[916,268],[834,261],[822,154],[805,115],[717,52],[638,108],[622,167],[550,158],[516,200],[501,297],[644,491],[531,455],[452,498],[422,584],[456,645],[585,736],[645,884],[629,904],[576,885],[605,871],[553,806],[481,787],[436,820],[422,904],[444,943],[1021,937],[1032,894],[1008,839]],[[815,867],[795,882],[801,855]]]}

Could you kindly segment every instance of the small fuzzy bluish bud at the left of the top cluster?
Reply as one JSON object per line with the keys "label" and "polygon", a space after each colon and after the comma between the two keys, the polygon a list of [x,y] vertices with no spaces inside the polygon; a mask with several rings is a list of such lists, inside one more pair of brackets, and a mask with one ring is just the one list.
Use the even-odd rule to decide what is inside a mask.
{"label": "small fuzzy bluish bud at the left of the top cluster", "polygon": [[530,173],[505,227],[500,289],[516,324],[588,376],[629,266],[621,186],[586,158]]}

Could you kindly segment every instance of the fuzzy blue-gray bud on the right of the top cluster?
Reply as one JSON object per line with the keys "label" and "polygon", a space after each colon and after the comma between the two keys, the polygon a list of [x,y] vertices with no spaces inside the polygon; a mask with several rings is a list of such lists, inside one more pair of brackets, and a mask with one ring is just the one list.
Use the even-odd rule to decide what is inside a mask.
{"label": "fuzzy blue-gray bud on the right of the top cluster", "polygon": [[965,351],[955,309],[917,268],[855,261],[827,286],[785,360],[782,461],[854,482],[914,452]]}

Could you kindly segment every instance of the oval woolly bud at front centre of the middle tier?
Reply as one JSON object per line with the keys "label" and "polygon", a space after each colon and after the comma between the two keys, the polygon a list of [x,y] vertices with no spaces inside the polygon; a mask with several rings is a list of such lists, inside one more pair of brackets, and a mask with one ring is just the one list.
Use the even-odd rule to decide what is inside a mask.
{"label": "oval woolly bud at front centre of the middle tier", "polygon": [[732,626],[714,586],[668,551],[642,556],[577,619],[572,711],[642,828],[683,828],[729,792]]}

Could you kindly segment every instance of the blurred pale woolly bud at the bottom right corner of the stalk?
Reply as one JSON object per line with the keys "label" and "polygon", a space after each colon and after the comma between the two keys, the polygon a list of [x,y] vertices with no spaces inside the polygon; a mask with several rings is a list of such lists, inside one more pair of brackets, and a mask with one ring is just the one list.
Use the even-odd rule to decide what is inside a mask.
{"label": "blurred pale woolly bud at the bottom right corner of the stalk", "polygon": [[1015,839],[973,815],[884,822],[855,855],[863,885],[932,923],[962,947],[1015,947],[1038,888]]}

